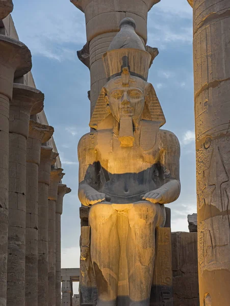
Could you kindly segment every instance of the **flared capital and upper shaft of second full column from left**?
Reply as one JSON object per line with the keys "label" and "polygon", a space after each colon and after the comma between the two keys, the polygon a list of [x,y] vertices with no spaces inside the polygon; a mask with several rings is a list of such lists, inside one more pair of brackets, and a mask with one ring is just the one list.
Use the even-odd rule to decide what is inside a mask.
{"label": "flared capital and upper shaft of second full column from left", "polygon": [[13,96],[10,101],[9,132],[28,138],[31,109],[43,109],[44,94],[33,87],[23,84],[13,85]]}

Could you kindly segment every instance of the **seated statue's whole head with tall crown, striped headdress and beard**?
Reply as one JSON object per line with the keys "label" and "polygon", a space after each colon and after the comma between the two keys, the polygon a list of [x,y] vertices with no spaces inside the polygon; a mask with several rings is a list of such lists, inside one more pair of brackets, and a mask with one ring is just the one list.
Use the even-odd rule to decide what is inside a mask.
{"label": "seated statue's whole head with tall crown, striped headdress and beard", "polygon": [[103,62],[108,82],[100,91],[90,126],[98,129],[98,125],[112,115],[119,123],[122,146],[132,146],[133,128],[135,130],[141,120],[158,122],[159,127],[165,123],[156,92],[147,82],[151,56],[135,32],[134,20],[121,21],[121,31],[104,54]]}

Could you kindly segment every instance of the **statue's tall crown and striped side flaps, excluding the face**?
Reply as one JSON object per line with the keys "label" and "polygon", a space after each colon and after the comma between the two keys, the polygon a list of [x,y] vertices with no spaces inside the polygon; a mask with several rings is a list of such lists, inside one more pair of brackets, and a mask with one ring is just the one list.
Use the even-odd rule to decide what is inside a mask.
{"label": "statue's tall crown and striped side flaps, excluding the face", "polygon": [[[120,23],[120,32],[112,40],[108,52],[103,55],[108,81],[121,76],[122,83],[127,80],[127,85],[129,85],[129,76],[133,76],[147,82],[152,57],[145,50],[144,44],[136,34],[135,29],[135,21],[132,18],[124,18]],[[103,87],[89,124],[93,129],[97,129],[98,124],[111,113],[110,109],[106,107],[106,94],[106,88]],[[145,104],[149,113],[148,120],[157,121],[159,126],[165,124],[165,117],[158,97],[149,83],[146,84]]]}

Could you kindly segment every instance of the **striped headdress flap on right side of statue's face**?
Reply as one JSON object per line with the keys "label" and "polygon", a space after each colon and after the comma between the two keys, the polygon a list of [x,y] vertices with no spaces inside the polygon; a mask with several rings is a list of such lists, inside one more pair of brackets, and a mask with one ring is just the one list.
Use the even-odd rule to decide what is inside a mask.
{"label": "striped headdress flap on right side of statue's face", "polygon": [[149,115],[150,115],[151,121],[160,122],[160,126],[164,125],[166,122],[165,116],[161,108],[160,102],[158,100],[156,91],[150,83],[148,83],[145,88],[144,96],[145,96],[145,108],[147,107],[148,114],[146,114],[146,111],[144,111],[143,119],[149,120]]}

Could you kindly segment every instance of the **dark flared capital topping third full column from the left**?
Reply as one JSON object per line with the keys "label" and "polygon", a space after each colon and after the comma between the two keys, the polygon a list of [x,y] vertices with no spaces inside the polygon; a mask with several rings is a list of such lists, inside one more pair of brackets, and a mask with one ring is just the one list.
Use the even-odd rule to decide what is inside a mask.
{"label": "dark flared capital topping third full column from the left", "polygon": [[44,125],[34,120],[30,120],[29,137],[41,141],[41,143],[47,142],[54,134],[54,127]]}

